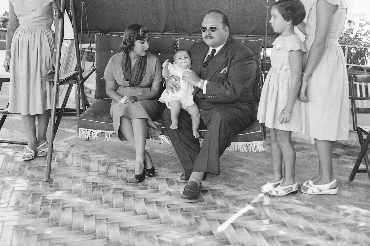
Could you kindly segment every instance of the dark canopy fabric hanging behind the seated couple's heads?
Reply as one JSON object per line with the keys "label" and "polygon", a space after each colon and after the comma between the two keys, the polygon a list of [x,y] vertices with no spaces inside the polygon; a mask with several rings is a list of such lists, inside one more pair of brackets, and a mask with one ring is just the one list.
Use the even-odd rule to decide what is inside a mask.
{"label": "dark canopy fabric hanging behind the seated couple's heads", "polygon": [[[80,32],[82,4],[80,0],[74,2]],[[204,15],[209,10],[218,9],[229,18],[230,34],[263,36],[265,3],[265,0],[85,0],[84,4],[90,32],[123,32],[128,25],[136,23],[144,25],[150,32],[199,35]],[[68,0],[65,8],[69,13]],[[85,20],[82,31],[87,31]],[[270,24],[268,35],[275,36]]]}

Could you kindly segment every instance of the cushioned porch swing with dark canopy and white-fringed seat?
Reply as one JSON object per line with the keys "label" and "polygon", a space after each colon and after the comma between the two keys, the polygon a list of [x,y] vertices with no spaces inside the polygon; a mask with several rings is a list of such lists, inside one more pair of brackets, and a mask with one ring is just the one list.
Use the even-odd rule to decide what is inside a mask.
{"label": "cushioned porch swing with dark canopy and white-fringed seat", "polygon": [[[201,4],[196,0],[186,0],[174,3],[170,0],[157,0],[158,5],[146,6],[145,3],[136,1],[107,1],[101,5],[101,1],[96,0],[70,0],[70,5],[65,6],[65,9],[71,10],[71,20],[74,29],[74,37],[76,47],[78,46],[78,32],[80,32],[81,44],[88,41],[91,47],[91,38],[95,38],[95,61],[96,61],[96,86],[95,86],[95,100],[90,107],[83,112],[82,115],[77,115],[77,127],[79,137],[83,139],[95,139],[98,136],[104,137],[109,140],[110,137],[117,137],[113,131],[112,119],[110,116],[110,103],[111,99],[105,93],[105,81],[103,79],[105,66],[111,56],[121,52],[118,48],[122,41],[122,34],[128,25],[138,22],[138,14],[140,13],[140,22],[143,23],[150,32],[150,45],[148,52],[156,55],[160,62],[169,59],[172,61],[172,56],[176,49],[189,49],[194,42],[201,40],[201,34],[198,28],[201,19],[208,10],[217,8],[220,10],[228,10],[229,3],[221,1],[207,1],[206,4]],[[64,0],[62,0],[64,4]],[[89,4],[89,7],[86,7]],[[143,5],[144,4],[144,5]],[[268,14],[269,14],[269,0],[239,0],[233,4],[240,4],[244,8],[233,9],[229,14],[231,23],[247,23],[245,30],[242,25],[232,26],[231,36],[238,39],[240,43],[247,46],[254,54],[257,63],[256,80],[253,83],[253,96],[255,103],[258,104],[260,91],[263,79],[265,78],[266,69],[266,46],[270,45],[275,39],[276,35],[270,27],[268,27]],[[201,5],[197,7],[198,5]],[[62,5],[64,6],[64,5]],[[161,6],[171,6],[171,10],[164,13]],[[191,6],[194,13],[189,13],[190,16],[182,17],[175,15],[175,13],[182,13]],[[265,10],[266,8],[266,10]],[[125,11],[129,9],[130,11]],[[77,11],[81,11],[81,17],[76,15]],[[98,12],[99,11],[99,12]],[[248,14],[248,11],[250,14]],[[263,15],[256,13],[263,13],[266,11],[266,18]],[[87,15],[94,16],[89,24],[86,21],[83,24],[83,13],[87,20]],[[107,14],[109,13],[109,14]],[[152,16],[153,13],[162,13],[161,16]],[[105,15],[106,14],[106,15]],[[187,13],[188,14],[188,13]],[[104,17],[104,18],[102,18]],[[153,22],[153,17],[159,18],[159,21]],[[255,18],[253,21],[248,18]],[[78,19],[80,18],[80,20]],[[81,21],[81,26],[78,27],[76,23]],[[257,21],[257,22],[256,22]],[[253,24],[252,24],[253,23]],[[263,23],[262,25],[260,23]],[[256,25],[254,27],[253,25]],[[258,28],[259,25],[259,28]],[[189,28],[184,28],[189,27]],[[180,30],[180,31],[179,31]],[[95,33],[95,37],[91,35]],[[261,48],[263,48],[263,59],[261,66]],[[58,45],[60,47],[60,45]],[[80,52],[76,49],[76,52]],[[76,55],[80,57],[79,54]],[[58,58],[58,56],[57,56]],[[263,69],[261,69],[261,67]],[[78,88],[83,86],[85,79],[79,80]],[[76,102],[79,102],[79,93],[76,93]],[[77,107],[79,108],[79,107]],[[161,123],[161,120],[158,120]],[[160,139],[162,143],[169,143],[168,136],[165,128],[162,127],[162,135],[156,136],[155,139]],[[201,139],[206,134],[206,129],[200,130]],[[233,139],[233,143],[228,150],[235,150],[240,152],[245,151],[262,151],[263,139],[265,138],[265,128],[256,120],[252,125],[247,127],[244,131],[240,132]],[[50,149],[49,145],[49,149]],[[51,153],[51,152],[50,152]],[[49,157],[48,157],[49,158]],[[51,158],[51,155],[50,155]],[[46,172],[46,179],[50,180],[50,162]]]}

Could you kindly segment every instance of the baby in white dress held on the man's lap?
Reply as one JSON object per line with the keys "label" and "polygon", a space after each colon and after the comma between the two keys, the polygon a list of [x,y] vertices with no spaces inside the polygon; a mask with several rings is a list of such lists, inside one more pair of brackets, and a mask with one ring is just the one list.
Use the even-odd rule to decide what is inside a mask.
{"label": "baby in white dress held on the man's lap", "polygon": [[166,91],[163,91],[159,101],[165,103],[167,107],[171,110],[171,129],[177,129],[178,118],[181,108],[186,110],[191,115],[191,120],[193,124],[193,135],[195,138],[199,138],[199,124],[201,122],[201,116],[199,114],[198,106],[194,103],[193,100],[193,86],[182,80],[182,72],[184,70],[189,70],[191,65],[191,59],[189,52],[181,49],[177,51],[174,55],[174,64],[165,60],[162,67],[162,75],[165,79],[168,79],[170,76],[175,75],[180,78],[181,90],[176,93],[167,94]]}

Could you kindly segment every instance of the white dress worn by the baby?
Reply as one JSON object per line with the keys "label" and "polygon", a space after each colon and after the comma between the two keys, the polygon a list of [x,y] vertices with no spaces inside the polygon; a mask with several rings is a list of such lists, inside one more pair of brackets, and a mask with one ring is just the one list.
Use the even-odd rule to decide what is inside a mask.
{"label": "white dress worn by the baby", "polygon": [[189,107],[194,104],[194,96],[193,91],[194,87],[184,80],[182,80],[182,72],[184,72],[185,69],[182,67],[179,67],[176,64],[168,64],[168,70],[169,75],[176,75],[180,78],[180,86],[181,90],[176,93],[169,93],[167,94],[166,91],[163,91],[161,97],[159,97],[159,101],[161,103],[165,103],[166,106],[171,109],[171,106],[168,104],[172,100],[179,100],[182,104],[183,109],[186,107]]}

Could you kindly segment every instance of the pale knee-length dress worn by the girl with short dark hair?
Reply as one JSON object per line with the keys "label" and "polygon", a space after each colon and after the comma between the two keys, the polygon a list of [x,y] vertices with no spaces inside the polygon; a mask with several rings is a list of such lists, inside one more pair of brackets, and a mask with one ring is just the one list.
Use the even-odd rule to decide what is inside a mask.
{"label": "pale knee-length dress worn by the girl with short dark hair", "polygon": [[297,97],[290,115],[290,121],[280,124],[279,115],[285,108],[291,83],[289,51],[306,51],[297,34],[279,36],[272,43],[271,69],[266,77],[258,106],[257,119],[266,127],[283,131],[302,131],[301,103]]}

